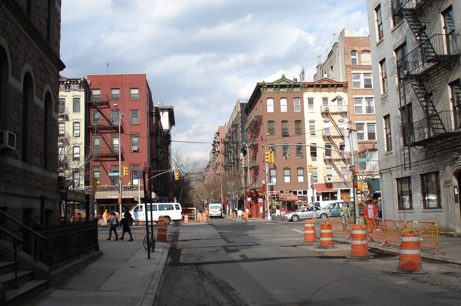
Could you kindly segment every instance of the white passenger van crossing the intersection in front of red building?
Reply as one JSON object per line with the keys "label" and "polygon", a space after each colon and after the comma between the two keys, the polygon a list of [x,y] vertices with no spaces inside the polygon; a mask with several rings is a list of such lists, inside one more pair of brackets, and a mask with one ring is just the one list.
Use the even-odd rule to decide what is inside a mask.
{"label": "white passenger van crossing the intersection in front of red building", "polygon": [[[165,216],[167,220],[167,224],[170,224],[171,220],[173,221],[181,221],[183,219],[183,208],[179,203],[155,203],[155,204],[148,204],[147,205],[147,213],[149,221],[150,219],[150,211],[152,208],[152,219],[154,221],[159,220],[159,216]],[[137,204],[130,210],[131,216],[133,216],[134,222],[146,222],[146,204],[141,203]]]}

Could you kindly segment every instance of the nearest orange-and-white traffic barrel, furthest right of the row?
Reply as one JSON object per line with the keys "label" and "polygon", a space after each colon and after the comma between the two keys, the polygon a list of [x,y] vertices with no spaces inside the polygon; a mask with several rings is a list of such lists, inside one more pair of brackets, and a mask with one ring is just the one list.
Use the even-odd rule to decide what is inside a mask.
{"label": "nearest orange-and-white traffic barrel, furthest right of the row", "polygon": [[410,231],[400,233],[399,268],[394,273],[424,274],[421,264],[420,235]]}

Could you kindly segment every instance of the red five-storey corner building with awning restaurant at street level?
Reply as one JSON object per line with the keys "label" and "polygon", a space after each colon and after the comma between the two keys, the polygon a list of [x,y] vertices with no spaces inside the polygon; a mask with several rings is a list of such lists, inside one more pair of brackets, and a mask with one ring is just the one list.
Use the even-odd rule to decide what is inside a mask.
{"label": "red five-storey corner building with awning restaurant at street level", "polygon": [[[98,214],[104,209],[118,210],[120,179],[122,205],[130,208],[144,198],[134,171],[151,166],[155,173],[165,163],[170,140],[164,137],[160,109],[154,107],[145,74],[89,75],[88,82],[88,159],[91,176],[100,180],[95,194]],[[119,156],[123,173],[119,172]],[[160,177],[148,183],[156,199],[163,196],[168,183]]]}

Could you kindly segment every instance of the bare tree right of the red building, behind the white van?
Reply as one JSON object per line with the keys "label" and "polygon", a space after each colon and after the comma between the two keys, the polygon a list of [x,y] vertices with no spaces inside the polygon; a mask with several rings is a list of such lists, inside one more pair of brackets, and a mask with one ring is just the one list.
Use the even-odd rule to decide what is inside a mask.
{"label": "bare tree right of the red building, behind the white van", "polygon": [[179,147],[171,152],[171,164],[179,170],[179,180],[173,180],[171,188],[177,202],[192,202],[193,185],[203,179],[207,162],[203,158],[184,153]]}

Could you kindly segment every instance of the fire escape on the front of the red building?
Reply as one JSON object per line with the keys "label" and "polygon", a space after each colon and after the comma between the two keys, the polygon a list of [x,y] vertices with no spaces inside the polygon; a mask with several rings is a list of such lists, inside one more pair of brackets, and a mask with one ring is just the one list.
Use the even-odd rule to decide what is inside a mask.
{"label": "fire escape on the front of the red building", "polygon": [[[99,162],[101,168],[109,175],[111,172],[108,169],[107,162],[117,160],[119,150],[122,150],[121,158],[123,160],[123,149],[120,148],[120,139],[118,144],[112,144],[111,135],[117,133],[118,137],[118,120],[119,117],[111,119],[106,114],[104,109],[109,108],[109,96],[108,95],[91,95],[89,99],[90,107],[90,119],[89,119],[89,130],[91,137],[91,152],[94,160]],[[117,122],[114,122],[117,121]],[[123,132],[123,129],[122,129]],[[112,176],[109,176],[112,181],[112,185],[115,185]]]}

